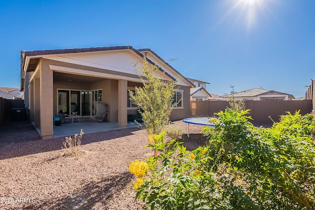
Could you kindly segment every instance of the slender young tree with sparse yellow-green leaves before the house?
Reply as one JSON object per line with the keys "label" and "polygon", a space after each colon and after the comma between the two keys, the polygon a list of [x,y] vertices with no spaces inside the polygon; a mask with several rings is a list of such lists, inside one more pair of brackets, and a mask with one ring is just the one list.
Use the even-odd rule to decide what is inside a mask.
{"label": "slender young tree with sparse yellow-green leaves before the house", "polygon": [[133,103],[142,109],[139,113],[149,133],[149,140],[151,138],[152,142],[158,143],[158,141],[163,141],[163,138],[158,138],[158,136],[169,124],[169,116],[176,105],[173,101],[176,84],[173,80],[166,81],[161,79],[160,75],[157,76],[158,66],[149,66],[146,59],[141,66],[138,66],[137,62],[133,64],[138,68],[137,72],[143,87],[135,87],[135,94],[129,91],[129,95]]}

